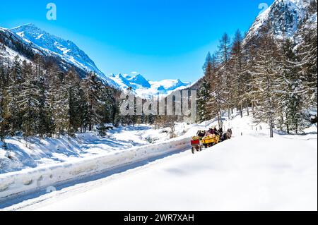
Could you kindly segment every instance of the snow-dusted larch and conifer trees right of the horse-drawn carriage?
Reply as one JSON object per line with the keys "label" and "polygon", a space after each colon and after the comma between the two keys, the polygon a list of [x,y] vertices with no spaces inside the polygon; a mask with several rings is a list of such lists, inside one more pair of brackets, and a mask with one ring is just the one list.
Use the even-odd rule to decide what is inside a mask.
{"label": "snow-dusted larch and conifer trees right of the horse-drawn carriage", "polygon": [[[199,121],[221,111],[243,109],[257,123],[269,124],[288,133],[299,133],[308,124],[308,110],[317,116],[317,23],[316,30],[300,32],[302,42],[288,37],[275,39],[264,26],[244,41],[240,31],[234,39],[220,39],[218,51],[208,54],[205,77],[199,87]],[[284,36],[284,35],[283,35]],[[249,109],[252,109],[250,111]]]}

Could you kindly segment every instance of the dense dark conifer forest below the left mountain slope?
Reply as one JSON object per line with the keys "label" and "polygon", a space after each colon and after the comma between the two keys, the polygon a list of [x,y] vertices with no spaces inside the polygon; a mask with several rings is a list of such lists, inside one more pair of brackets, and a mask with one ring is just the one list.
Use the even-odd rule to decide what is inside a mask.
{"label": "dense dark conifer forest below the left mountain slope", "polygon": [[40,56],[33,63],[0,59],[0,138],[72,136],[95,128],[105,134],[106,123],[120,122],[115,94],[94,73],[81,79]]}

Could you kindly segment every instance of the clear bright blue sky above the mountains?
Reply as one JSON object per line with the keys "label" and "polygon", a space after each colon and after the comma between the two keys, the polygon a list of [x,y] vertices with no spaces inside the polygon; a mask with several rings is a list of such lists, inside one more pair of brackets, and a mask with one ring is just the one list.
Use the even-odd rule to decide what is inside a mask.
{"label": "clear bright blue sky above the mountains", "polygon": [[[57,20],[47,20],[48,3]],[[104,73],[137,71],[151,80],[194,81],[224,32],[248,30],[273,0],[1,1],[0,26],[34,23],[70,39]]]}

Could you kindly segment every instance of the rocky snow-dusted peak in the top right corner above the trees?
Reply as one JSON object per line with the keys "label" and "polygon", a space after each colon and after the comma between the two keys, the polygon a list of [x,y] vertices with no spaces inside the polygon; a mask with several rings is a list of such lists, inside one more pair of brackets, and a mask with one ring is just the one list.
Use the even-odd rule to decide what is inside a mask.
{"label": "rocky snow-dusted peak in the top right corner above the trees", "polygon": [[293,38],[298,30],[307,23],[317,23],[317,9],[313,10],[316,0],[275,0],[261,13],[247,32],[246,40],[258,35],[264,25],[269,24],[277,38]]}

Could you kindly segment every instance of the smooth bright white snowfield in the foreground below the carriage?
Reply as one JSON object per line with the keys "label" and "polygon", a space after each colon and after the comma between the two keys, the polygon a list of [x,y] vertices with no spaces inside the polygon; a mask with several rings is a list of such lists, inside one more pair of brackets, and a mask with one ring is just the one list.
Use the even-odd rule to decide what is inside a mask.
{"label": "smooth bright white snowfield in the foreground below the carriage", "polygon": [[317,125],[306,135],[276,133],[273,139],[247,116],[225,126],[233,129],[232,140],[203,152],[131,165],[4,209],[317,210]]}

